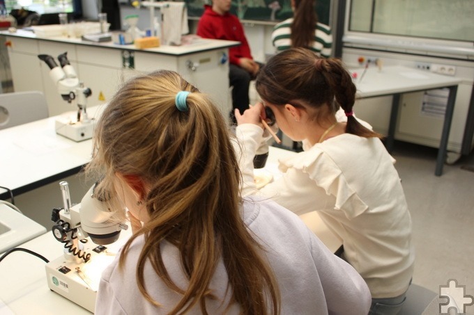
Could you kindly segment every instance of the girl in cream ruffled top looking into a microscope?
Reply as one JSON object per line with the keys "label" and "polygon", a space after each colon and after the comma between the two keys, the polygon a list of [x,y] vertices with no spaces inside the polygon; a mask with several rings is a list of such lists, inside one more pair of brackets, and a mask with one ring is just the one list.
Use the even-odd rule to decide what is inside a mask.
{"label": "girl in cream ruffled top looking into a microscope", "polygon": [[[298,215],[318,211],[342,240],[342,258],[369,286],[369,314],[397,314],[413,275],[411,216],[381,135],[354,117],[351,74],[336,58],[291,48],[268,60],[256,88],[262,102],[236,113],[243,195],[263,195]],[[346,122],[336,119],[339,106]],[[252,159],[265,108],[291,140],[303,141],[304,151],[280,161],[282,177],[257,191]]]}

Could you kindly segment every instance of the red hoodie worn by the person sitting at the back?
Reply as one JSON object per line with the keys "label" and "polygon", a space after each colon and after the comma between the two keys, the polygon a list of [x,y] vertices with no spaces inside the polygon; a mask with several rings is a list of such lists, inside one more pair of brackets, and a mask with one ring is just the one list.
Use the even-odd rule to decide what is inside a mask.
{"label": "red hoodie worn by the person sitting at the back", "polygon": [[201,38],[212,38],[215,40],[237,40],[241,44],[229,48],[229,62],[239,65],[239,58],[252,58],[250,47],[245,38],[242,24],[238,17],[230,13],[220,15],[213,11],[211,6],[205,5],[203,15],[197,24],[197,35]]}

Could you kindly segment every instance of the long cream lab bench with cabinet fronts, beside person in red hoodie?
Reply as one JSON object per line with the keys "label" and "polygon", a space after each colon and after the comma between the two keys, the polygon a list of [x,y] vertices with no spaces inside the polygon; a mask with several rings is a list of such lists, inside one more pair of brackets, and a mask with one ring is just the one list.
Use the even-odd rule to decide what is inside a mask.
{"label": "long cream lab bench with cabinet fronts, beside person in red hoodie", "polygon": [[134,45],[113,42],[87,42],[80,38],[40,38],[31,31],[0,31],[6,37],[8,57],[15,92],[44,92],[49,115],[70,111],[49,77],[49,67],[38,58],[47,54],[56,58],[67,53],[79,80],[91,88],[89,102],[104,104],[123,82],[137,74],[154,70],[173,70],[187,81],[207,92],[220,106],[224,117],[229,104],[229,47],[240,42],[196,38],[189,45],[137,49]]}

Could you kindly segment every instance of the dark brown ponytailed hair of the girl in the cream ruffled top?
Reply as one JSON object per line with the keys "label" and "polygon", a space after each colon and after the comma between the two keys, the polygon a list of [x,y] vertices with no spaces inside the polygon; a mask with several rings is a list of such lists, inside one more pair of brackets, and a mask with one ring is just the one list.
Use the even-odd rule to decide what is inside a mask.
{"label": "dark brown ponytailed hair of the girl in the cream ruffled top", "polygon": [[349,114],[346,133],[382,138],[351,115],[356,88],[339,59],[325,59],[305,48],[287,49],[268,60],[255,86],[263,100],[275,105],[303,102],[312,108],[326,109],[331,115],[341,106]]}

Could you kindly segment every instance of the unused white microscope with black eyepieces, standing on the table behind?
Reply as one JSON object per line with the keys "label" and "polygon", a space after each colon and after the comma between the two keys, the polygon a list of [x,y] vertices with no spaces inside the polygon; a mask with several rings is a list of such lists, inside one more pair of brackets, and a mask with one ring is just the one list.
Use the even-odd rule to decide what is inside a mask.
{"label": "unused white microscope with black eyepieces, standing on the table behind", "polygon": [[96,120],[89,119],[86,112],[86,100],[91,96],[90,88],[84,87],[77,74],[70,65],[67,53],[58,56],[59,65],[52,56],[40,54],[40,60],[43,60],[49,67],[49,76],[56,84],[59,95],[68,103],[77,104],[77,117],[58,118],[56,120],[56,134],[65,136],[76,142],[92,138]]}

